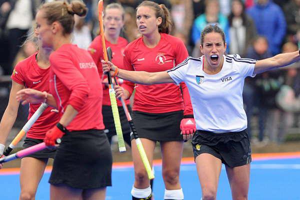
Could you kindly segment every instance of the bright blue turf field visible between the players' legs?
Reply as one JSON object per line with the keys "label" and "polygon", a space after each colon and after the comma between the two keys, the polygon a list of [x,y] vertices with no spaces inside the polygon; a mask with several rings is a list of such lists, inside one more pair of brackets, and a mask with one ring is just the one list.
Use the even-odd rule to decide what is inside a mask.
{"label": "bright blue turf field visible between the players' legs", "polygon": [[[154,166],[154,196],[163,199],[163,181],[161,166]],[[36,194],[36,200],[49,199],[49,172],[45,172]],[[18,199],[19,175],[1,174],[0,200]],[[201,189],[194,164],[182,164],[180,181],[184,199],[200,199]],[[112,187],[107,188],[106,200],[131,199],[130,190],[133,183],[132,167],[117,167],[112,171]],[[222,167],[217,199],[231,199],[230,188],[224,167]],[[249,199],[255,200],[300,200],[300,158],[263,159],[251,163]]]}

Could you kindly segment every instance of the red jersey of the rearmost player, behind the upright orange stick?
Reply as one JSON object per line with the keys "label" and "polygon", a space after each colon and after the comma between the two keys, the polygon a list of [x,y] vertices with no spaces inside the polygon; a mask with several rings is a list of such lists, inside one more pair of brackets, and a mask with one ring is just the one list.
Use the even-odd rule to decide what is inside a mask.
{"label": "red jersey of the rearmost player, behind the upright orange stick", "polygon": [[[113,44],[110,43],[105,39],[105,46],[111,47],[112,50],[112,63],[118,66],[119,68],[123,68],[123,53],[124,48],[128,44],[128,41],[123,37],[118,37],[117,43]],[[103,60],[103,48],[102,48],[102,40],[101,36],[96,36],[93,41],[91,42],[90,46],[88,47],[88,52],[90,53],[91,57],[93,58],[94,62],[97,64],[98,71],[100,74],[100,77],[102,77],[102,63],[101,60]],[[103,78],[107,78],[106,75],[103,76]],[[126,80],[124,80],[126,82]],[[128,82],[128,81],[127,81]],[[132,83],[133,84],[133,83]],[[120,84],[122,86],[122,84]],[[117,105],[122,106],[122,103],[120,100],[116,99]],[[126,104],[129,104],[129,100],[125,100]],[[108,87],[103,84],[103,105],[111,105],[110,104],[110,98],[109,98],[109,91]]]}

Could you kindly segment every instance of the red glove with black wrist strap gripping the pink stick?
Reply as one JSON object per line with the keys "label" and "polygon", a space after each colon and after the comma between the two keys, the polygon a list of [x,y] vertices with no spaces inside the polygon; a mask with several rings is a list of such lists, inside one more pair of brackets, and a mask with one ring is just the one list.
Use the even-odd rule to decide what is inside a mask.
{"label": "red glove with black wrist strap gripping the pink stick", "polygon": [[46,136],[43,141],[47,146],[54,146],[56,144],[56,139],[61,138],[66,131],[67,129],[58,122],[54,127],[46,132]]}

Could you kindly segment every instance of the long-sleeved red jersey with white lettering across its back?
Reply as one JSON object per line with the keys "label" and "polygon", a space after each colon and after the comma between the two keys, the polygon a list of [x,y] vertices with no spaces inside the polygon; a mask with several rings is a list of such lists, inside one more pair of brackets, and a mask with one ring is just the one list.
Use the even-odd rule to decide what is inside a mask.
{"label": "long-sleeved red jersey with white lettering across its back", "polygon": [[74,44],[63,44],[50,54],[49,60],[50,93],[60,115],[68,104],[78,111],[66,128],[103,129],[102,85],[89,53]]}

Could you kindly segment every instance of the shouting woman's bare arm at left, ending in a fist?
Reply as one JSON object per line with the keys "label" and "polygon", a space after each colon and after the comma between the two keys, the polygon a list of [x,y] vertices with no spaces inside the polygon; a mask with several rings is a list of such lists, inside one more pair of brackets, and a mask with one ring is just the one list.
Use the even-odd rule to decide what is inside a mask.
{"label": "shouting woman's bare arm at left, ending in a fist", "polygon": [[159,72],[146,72],[146,71],[128,71],[120,69],[110,61],[102,60],[103,72],[110,70],[112,76],[117,75],[118,77],[129,80],[131,82],[139,84],[159,84],[174,82],[166,71]]}

